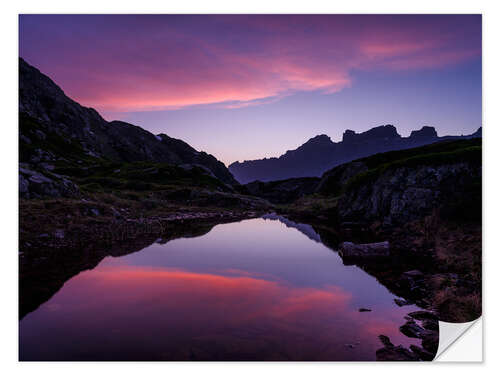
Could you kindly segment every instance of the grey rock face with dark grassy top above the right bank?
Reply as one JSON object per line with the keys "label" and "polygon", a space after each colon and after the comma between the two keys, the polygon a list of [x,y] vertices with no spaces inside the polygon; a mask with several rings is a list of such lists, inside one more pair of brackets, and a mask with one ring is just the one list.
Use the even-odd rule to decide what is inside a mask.
{"label": "grey rock face with dark grassy top above the right bank", "polygon": [[476,199],[480,183],[481,140],[472,139],[358,159],[326,172],[316,191],[339,197],[340,222],[392,225]]}

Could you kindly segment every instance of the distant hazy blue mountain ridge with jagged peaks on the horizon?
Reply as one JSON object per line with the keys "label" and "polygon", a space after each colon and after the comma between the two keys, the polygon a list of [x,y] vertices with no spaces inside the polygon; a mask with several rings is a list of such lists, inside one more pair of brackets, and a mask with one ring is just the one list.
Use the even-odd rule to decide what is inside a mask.
{"label": "distant hazy blue mountain ridge with jagged peaks on the horizon", "polygon": [[467,136],[445,137],[438,137],[436,129],[431,126],[414,130],[409,137],[401,137],[393,125],[377,126],[363,133],[346,130],[341,142],[333,142],[324,134],[318,135],[278,158],[234,162],[229,165],[229,171],[242,184],[257,180],[319,177],[337,165],[376,153],[404,150],[442,140],[476,137],[481,137],[480,129]]}

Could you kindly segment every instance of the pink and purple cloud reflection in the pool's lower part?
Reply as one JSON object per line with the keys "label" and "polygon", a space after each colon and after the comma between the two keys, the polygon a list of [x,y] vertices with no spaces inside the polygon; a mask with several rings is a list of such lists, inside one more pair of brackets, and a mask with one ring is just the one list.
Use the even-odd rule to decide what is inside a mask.
{"label": "pink and purple cloud reflection in the pool's lower part", "polygon": [[[116,347],[116,359],[177,360],[374,359],[377,335],[397,335],[391,314],[359,313],[343,288],[263,277],[237,269],[211,274],[119,263],[98,267],[27,316],[25,331],[34,324],[37,337],[45,332],[54,348],[84,348],[92,358],[114,358]],[[348,347],[355,342],[355,349]]]}

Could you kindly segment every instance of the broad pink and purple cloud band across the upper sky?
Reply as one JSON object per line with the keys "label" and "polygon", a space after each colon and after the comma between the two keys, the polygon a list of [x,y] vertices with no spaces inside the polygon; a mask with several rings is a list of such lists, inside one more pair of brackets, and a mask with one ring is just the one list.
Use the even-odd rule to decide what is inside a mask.
{"label": "broad pink and purple cloud band across the upper sky", "polygon": [[99,39],[57,35],[62,58],[47,65],[70,96],[104,112],[261,105],[339,92],[359,69],[442,68],[481,55],[474,25],[445,16],[111,20]]}

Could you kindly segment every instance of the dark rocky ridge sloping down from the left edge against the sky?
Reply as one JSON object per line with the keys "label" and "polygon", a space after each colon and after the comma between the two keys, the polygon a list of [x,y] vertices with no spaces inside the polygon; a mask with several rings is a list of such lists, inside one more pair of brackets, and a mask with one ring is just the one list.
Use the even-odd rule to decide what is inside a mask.
{"label": "dark rocky ridge sloping down from the left edge against the sky", "polygon": [[25,163],[53,162],[78,152],[80,161],[97,158],[200,165],[224,183],[237,184],[212,155],[165,134],[155,136],[123,121],[107,122],[94,109],[67,97],[49,77],[23,59],[19,59],[19,113],[20,157]]}

